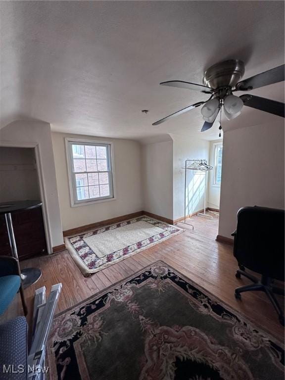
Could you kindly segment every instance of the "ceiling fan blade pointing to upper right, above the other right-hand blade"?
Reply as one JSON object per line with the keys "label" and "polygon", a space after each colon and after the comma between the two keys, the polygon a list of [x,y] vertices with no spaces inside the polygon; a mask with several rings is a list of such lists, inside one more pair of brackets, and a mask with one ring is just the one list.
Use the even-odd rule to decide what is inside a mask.
{"label": "ceiling fan blade pointing to upper right, above the other right-hand blade", "polygon": [[238,91],[249,91],[253,89],[258,89],[259,87],[268,86],[273,83],[284,81],[284,69],[285,65],[275,67],[274,69],[265,71],[254,75],[253,77],[244,79],[236,85]]}

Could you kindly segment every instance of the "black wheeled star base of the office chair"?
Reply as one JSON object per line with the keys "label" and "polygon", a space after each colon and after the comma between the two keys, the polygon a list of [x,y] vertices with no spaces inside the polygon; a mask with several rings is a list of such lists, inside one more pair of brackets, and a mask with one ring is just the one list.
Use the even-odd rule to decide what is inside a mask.
{"label": "black wheeled star base of the office chair", "polygon": [[284,289],[273,286],[273,280],[270,277],[262,276],[261,281],[258,281],[258,279],[255,278],[254,276],[251,276],[249,273],[246,273],[238,269],[236,273],[236,277],[240,279],[241,275],[251,280],[253,284],[237,287],[235,289],[235,297],[237,299],[241,299],[240,293],[244,291],[253,291],[253,290],[264,291],[267,294],[268,298],[270,299],[271,303],[273,304],[278,314],[279,322],[281,323],[282,326],[284,326],[285,324],[284,313],[281,306],[279,305],[277,301],[277,298],[274,295],[274,293],[284,295]]}

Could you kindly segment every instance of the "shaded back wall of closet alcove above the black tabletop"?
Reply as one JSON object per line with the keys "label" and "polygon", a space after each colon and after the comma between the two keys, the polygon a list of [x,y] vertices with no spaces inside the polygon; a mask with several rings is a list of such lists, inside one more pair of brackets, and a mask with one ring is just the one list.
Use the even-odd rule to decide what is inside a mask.
{"label": "shaded back wall of closet alcove above the black tabletop", "polygon": [[33,148],[0,146],[0,202],[41,199]]}

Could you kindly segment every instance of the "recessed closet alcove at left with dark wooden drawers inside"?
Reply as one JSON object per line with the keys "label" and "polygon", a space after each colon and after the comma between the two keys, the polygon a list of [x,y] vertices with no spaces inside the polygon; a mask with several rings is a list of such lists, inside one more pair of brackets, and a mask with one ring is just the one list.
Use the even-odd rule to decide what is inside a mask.
{"label": "recessed closet alcove at left with dark wooden drawers inside", "polygon": [[[0,203],[41,200],[34,148],[0,146]],[[12,216],[19,260],[47,252],[42,208]],[[0,216],[1,255],[10,255],[4,216]]]}

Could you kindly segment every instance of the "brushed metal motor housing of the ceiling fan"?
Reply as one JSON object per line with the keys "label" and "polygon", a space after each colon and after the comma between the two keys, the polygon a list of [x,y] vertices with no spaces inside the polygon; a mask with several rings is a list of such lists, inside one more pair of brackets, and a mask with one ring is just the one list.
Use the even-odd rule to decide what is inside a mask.
{"label": "brushed metal motor housing of the ceiling fan", "polygon": [[203,85],[217,89],[235,87],[244,74],[244,63],[238,59],[216,63],[209,67],[203,76]]}

